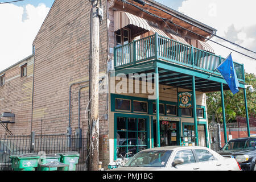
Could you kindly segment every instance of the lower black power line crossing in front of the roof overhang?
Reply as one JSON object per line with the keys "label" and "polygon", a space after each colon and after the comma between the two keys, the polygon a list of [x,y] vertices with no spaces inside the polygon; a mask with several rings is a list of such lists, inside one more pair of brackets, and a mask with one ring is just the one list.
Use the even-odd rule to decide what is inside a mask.
{"label": "lower black power line crossing in front of the roof overhang", "polygon": [[[169,20],[169,19],[162,18],[162,17],[160,17],[160,16],[158,16],[158,15],[155,15],[155,14],[153,14],[153,13],[150,13],[150,12],[148,12],[147,10],[144,10],[143,8],[141,8],[141,7],[139,7],[139,6],[134,5],[133,3],[127,2],[126,0],[122,0],[122,1],[125,2],[125,3],[127,3],[127,4],[129,4],[129,5],[131,5],[131,6],[136,7],[137,9],[143,11],[144,13],[147,13],[147,14],[150,14],[151,16],[154,16],[154,17],[156,17],[156,18],[162,19],[163,21],[166,20],[166,21],[168,21],[168,22],[174,24],[175,26],[178,26],[178,27],[180,27],[180,28],[183,28],[184,30],[187,30],[187,31],[191,32],[192,34],[196,34],[196,35],[198,35],[198,36],[201,36],[202,38],[207,39],[207,40],[210,40],[211,42],[216,43],[216,44],[218,44],[218,45],[220,45],[220,46],[222,46],[222,47],[228,48],[228,49],[230,49],[230,50],[232,50],[232,51],[234,51],[234,52],[240,53],[240,54],[243,55],[243,56],[250,57],[251,59],[256,60],[255,57],[251,57],[251,56],[249,56],[249,55],[246,55],[245,53],[236,51],[236,50],[234,50],[234,49],[232,49],[232,48],[229,48],[229,47],[224,46],[224,45],[222,45],[222,44],[220,44],[220,43],[217,43],[217,42],[215,42],[214,40],[211,40],[211,39],[209,39],[209,38],[205,38],[203,35],[197,34],[196,32],[193,32],[193,31],[191,31],[191,30],[188,30],[187,28],[184,28],[184,27],[182,27],[182,26],[179,26],[178,24],[175,24],[174,22],[172,22],[172,21]],[[151,5],[151,6],[152,6],[152,5]],[[165,22],[165,21],[164,21],[164,22]],[[170,27],[169,27],[169,28],[170,28]],[[251,51],[251,52],[253,52],[253,51]]]}

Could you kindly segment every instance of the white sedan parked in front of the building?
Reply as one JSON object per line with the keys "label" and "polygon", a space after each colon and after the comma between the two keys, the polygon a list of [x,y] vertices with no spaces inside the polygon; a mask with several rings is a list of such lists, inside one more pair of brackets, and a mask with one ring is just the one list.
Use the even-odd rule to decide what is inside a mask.
{"label": "white sedan parked in front of the building", "polygon": [[236,159],[224,158],[207,147],[168,146],[138,152],[115,171],[240,171]]}

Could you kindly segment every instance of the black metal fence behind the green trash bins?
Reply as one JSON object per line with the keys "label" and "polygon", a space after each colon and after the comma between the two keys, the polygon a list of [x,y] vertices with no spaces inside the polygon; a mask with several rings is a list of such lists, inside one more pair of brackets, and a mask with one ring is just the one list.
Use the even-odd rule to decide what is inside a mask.
{"label": "black metal fence behind the green trash bins", "polygon": [[[65,134],[58,135],[16,135],[0,136],[0,171],[11,169],[11,155],[35,153],[39,155],[77,151],[80,154],[76,171],[86,171],[88,140],[87,137]],[[88,160],[86,160],[88,159]]]}

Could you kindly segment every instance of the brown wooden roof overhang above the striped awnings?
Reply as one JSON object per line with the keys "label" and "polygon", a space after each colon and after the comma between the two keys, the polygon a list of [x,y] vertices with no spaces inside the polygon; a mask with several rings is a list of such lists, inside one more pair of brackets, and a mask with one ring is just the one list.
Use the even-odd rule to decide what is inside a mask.
{"label": "brown wooden roof overhang above the striped awnings", "polygon": [[[136,6],[139,6],[141,8],[143,8],[144,10],[147,10],[150,13],[153,13],[155,15],[158,15],[162,18],[166,18],[171,20],[172,22],[174,22],[175,24],[187,28],[188,30],[191,30],[193,32],[195,32],[196,34],[199,34],[201,36],[204,37],[209,37],[212,36],[214,34],[216,34],[216,29],[209,27],[201,22],[198,22],[195,19],[190,18],[189,16],[186,16],[184,14],[181,14],[175,10],[170,9],[167,6],[164,6],[156,1],[152,1],[152,0],[147,0],[146,2],[150,5],[154,5],[155,7],[152,7],[150,5],[140,5],[139,3],[136,3],[134,1],[131,0],[126,0],[127,2],[133,3]],[[123,3],[120,0],[109,0],[109,4],[110,4],[110,8],[112,10],[117,10],[117,11],[126,11],[129,12],[131,14],[134,14],[136,16],[139,16],[143,19],[148,19],[148,20],[152,20],[153,22],[156,22],[158,24],[160,24],[163,28],[166,28],[166,23],[163,22],[163,20],[156,18],[154,16],[151,16],[147,13],[144,13],[143,11],[137,9],[137,7],[131,6],[129,4]],[[156,8],[157,7],[157,8]],[[172,30],[176,30],[176,28],[178,29],[179,32],[181,32],[181,34],[190,34],[189,32],[187,32],[186,30],[184,30],[183,28],[180,27],[176,27],[174,24],[172,23],[168,23],[168,26],[172,28]],[[192,36],[196,36],[196,35],[192,35]],[[197,39],[200,40],[204,40],[203,38],[199,37]]]}

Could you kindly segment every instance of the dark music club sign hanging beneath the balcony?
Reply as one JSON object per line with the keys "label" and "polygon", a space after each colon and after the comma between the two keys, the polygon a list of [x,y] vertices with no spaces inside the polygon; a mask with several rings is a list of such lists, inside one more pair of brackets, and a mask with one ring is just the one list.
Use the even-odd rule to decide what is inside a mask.
{"label": "dark music club sign hanging beneath the balcony", "polygon": [[178,109],[192,108],[192,92],[178,92]]}

